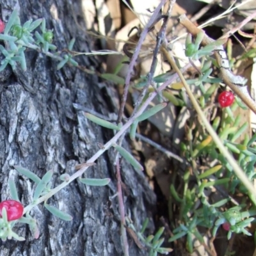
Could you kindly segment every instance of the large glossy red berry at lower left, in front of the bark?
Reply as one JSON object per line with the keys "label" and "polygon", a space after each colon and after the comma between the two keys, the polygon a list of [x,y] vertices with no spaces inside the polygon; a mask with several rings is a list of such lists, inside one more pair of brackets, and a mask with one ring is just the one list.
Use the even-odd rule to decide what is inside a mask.
{"label": "large glossy red berry at lower left, in front of the bark", "polygon": [[7,220],[18,220],[23,215],[23,205],[15,200],[6,200],[0,203],[0,217],[2,217],[3,207],[7,212]]}

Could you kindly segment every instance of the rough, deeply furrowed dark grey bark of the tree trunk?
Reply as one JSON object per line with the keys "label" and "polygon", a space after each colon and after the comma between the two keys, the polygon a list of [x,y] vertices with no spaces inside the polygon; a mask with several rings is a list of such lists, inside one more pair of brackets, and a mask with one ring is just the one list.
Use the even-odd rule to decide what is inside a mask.
{"label": "rough, deeply furrowed dark grey bark of the tree trunk", "polygon": [[[78,28],[74,15],[84,26],[80,1],[12,1],[2,0],[1,15],[6,22],[13,8],[19,8],[22,23],[33,18],[45,17],[47,28],[54,29],[54,44],[58,49],[67,48],[72,37],[76,38],[76,51],[93,49],[91,38]],[[56,9],[58,19],[51,11]],[[15,178],[22,204],[28,205],[35,184],[19,175],[15,164],[28,168],[42,177],[53,170],[52,188],[61,183],[62,173],[74,173],[74,166],[84,163],[113,136],[76,111],[73,103],[95,109],[108,116],[117,113],[115,87],[99,77],[65,66],[56,70],[56,61],[44,54],[27,51],[28,71],[19,67],[9,68],[0,74],[0,188],[1,200],[10,198],[8,179]],[[94,58],[81,57],[79,63],[100,70]],[[128,147],[125,142],[125,147]],[[101,156],[97,165],[90,167],[86,177],[110,177],[105,187],[89,187],[78,180],[72,182],[48,203],[73,216],[72,221],[62,221],[52,216],[43,205],[31,211],[40,230],[34,239],[28,225],[17,226],[17,233],[26,241],[0,241],[0,255],[122,255],[120,217],[116,194],[116,177],[113,150]],[[122,161],[122,180],[125,212],[138,228],[145,218],[152,217],[156,202],[143,173],[134,172]],[[128,191],[128,193],[127,193]],[[112,197],[113,196],[113,197]],[[151,219],[152,220],[152,219]],[[129,239],[130,255],[148,255]]]}

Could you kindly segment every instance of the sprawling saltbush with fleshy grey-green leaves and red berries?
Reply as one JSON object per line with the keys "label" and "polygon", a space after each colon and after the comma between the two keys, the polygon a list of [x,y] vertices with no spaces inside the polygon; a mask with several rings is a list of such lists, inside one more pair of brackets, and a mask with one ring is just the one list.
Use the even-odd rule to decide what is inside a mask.
{"label": "sprawling saltbush with fleshy grey-green leaves and red berries", "polygon": [[[43,52],[50,58],[57,60],[57,69],[62,68],[67,63],[74,67],[78,67],[78,63],[72,56],[72,48],[75,44],[74,39],[70,41],[67,53],[57,51],[56,45],[52,44],[54,37],[53,31],[45,27],[45,19],[38,19],[35,21],[28,20],[24,24],[21,24],[17,13],[17,10],[13,10],[10,19],[5,26],[3,22],[0,22],[0,40],[4,41],[5,45],[0,45],[0,51],[4,55],[4,59],[1,61],[0,71],[4,70],[7,65],[11,65],[13,69],[15,69],[17,65],[20,65],[22,70],[26,70],[25,51],[27,48]],[[196,79],[188,79],[186,83],[193,84],[200,90],[200,96],[198,96],[196,100],[199,102],[200,107],[207,111],[207,109],[211,109],[209,108],[212,104],[211,95],[218,90],[221,83],[220,78],[211,76],[213,68],[218,68],[216,61],[211,58],[211,55],[212,52],[225,42],[225,40],[218,40],[205,47],[200,47],[203,36],[203,33],[199,33],[194,42],[191,35],[188,35],[186,39],[186,56],[188,56],[191,61],[198,60],[201,63],[201,72],[199,76]],[[143,166],[134,159],[122,145],[120,145],[121,143],[118,143],[118,140],[126,131],[129,131],[131,140],[134,140],[140,122],[165,108],[167,105],[166,102],[163,102],[165,100],[169,100],[175,106],[188,109],[191,108],[191,102],[188,101],[185,94],[186,91],[182,86],[176,87],[176,90],[179,90],[179,92],[175,94],[164,92],[161,89],[165,88],[164,86],[173,83],[175,79],[177,79],[177,74],[172,74],[170,72],[156,77],[152,76],[152,81],[150,81],[150,83],[152,82],[152,84],[156,84],[156,88],[152,90],[152,88],[149,88],[148,86],[148,77],[140,77],[134,84],[134,87],[138,90],[145,90],[146,96],[144,99],[141,99],[140,104],[138,104],[136,113],[134,113],[134,115],[132,115],[124,124],[122,122],[114,124],[99,116],[85,113],[84,115],[88,120],[115,131],[115,136],[113,136],[113,138],[109,140],[99,152],[88,160],[88,165],[80,166],[81,170],[77,173],[72,176],[68,175],[68,173],[61,175],[60,179],[63,182],[58,187],[51,188],[51,171],[45,173],[45,175],[40,178],[26,168],[14,166],[17,172],[35,182],[36,187],[33,194],[33,202],[23,209],[23,205],[19,202],[15,183],[12,179],[9,180],[12,200],[6,200],[0,203],[0,238],[3,241],[12,238],[23,241],[24,237],[19,237],[18,234],[13,232],[15,223],[28,224],[34,237],[38,238],[40,230],[38,230],[36,220],[29,215],[29,212],[35,205],[42,202],[44,202],[44,207],[55,216],[58,216],[58,218],[65,221],[71,221],[72,216],[70,216],[70,214],[62,212],[56,207],[47,204],[47,200],[60,191],[60,189],[68,186],[72,180],[77,178],[79,178],[78,180],[80,182],[89,186],[106,186],[106,184],[110,182],[110,179],[108,178],[88,179],[82,178],[81,175],[88,166],[92,165],[103,152],[111,147],[115,148],[116,152],[124,157],[124,159],[136,170],[143,170]],[[124,79],[115,79],[115,81],[121,80],[124,82]],[[205,88],[206,83],[211,84],[207,89]],[[180,81],[177,81],[177,84],[180,84]],[[158,96],[159,104],[145,110],[156,95]],[[238,97],[234,97],[232,92],[225,91],[220,93],[218,102],[216,100],[214,106],[216,108],[221,107],[222,117],[220,118],[220,116],[217,115],[213,118],[212,128],[214,131],[218,132],[219,138],[228,151],[236,156],[237,163],[243,168],[247,177],[250,180],[255,179],[254,164],[256,163],[256,147],[254,144],[256,136],[253,136],[252,138],[245,136],[244,141],[239,143],[236,142],[237,138],[239,138],[245,131],[247,125],[240,124],[241,116],[235,117],[233,115],[234,110],[238,108],[238,106],[244,108],[241,100]],[[176,222],[173,223],[173,219],[170,218],[173,235],[170,237],[169,241],[173,242],[177,241],[177,239],[186,239],[187,249],[192,253],[193,250],[195,250],[195,248],[193,248],[193,241],[195,239],[204,244],[204,237],[203,234],[200,233],[199,227],[210,229],[212,236],[216,236],[218,228],[224,228],[227,230],[228,239],[233,233],[242,232],[243,234],[250,236],[251,234],[248,232],[248,226],[254,220],[253,216],[256,214],[255,206],[250,205],[248,207],[246,204],[234,206],[232,195],[238,190],[244,193],[244,195],[247,195],[255,205],[256,200],[252,193],[248,192],[245,184],[234,175],[230,162],[228,162],[225,156],[220,153],[220,150],[212,141],[212,137],[204,131],[204,127],[202,127],[201,123],[198,122],[196,118],[189,122],[189,143],[182,142],[180,144],[184,163],[186,162],[189,166],[182,175],[184,186],[181,190],[178,190],[175,183],[170,185],[170,193],[172,195],[170,199],[172,202],[170,202],[170,205],[179,205],[178,211],[180,212],[179,220]],[[195,136],[195,134],[197,135]],[[207,161],[204,162],[203,169],[200,168],[199,164],[202,159],[207,159]],[[191,170],[193,172],[191,172]],[[218,189],[220,186],[227,191],[225,198],[222,198],[218,202],[209,202],[209,197],[206,193],[207,189],[212,187]],[[2,208],[1,205],[3,206]],[[10,214],[11,212],[15,212],[15,209],[17,210],[15,218],[11,218]],[[23,209],[23,211],[21,211],[21,209]],[[171,211],[171,209],[169,209],[169,211]],[[20,215],[21,212],[22,215]],[[144,232],[148,220],[145,220],[145,223],[143,223],[140,230],[137,230],[137,228],[134,227],[129,218],[126,218],[125,223],[133,230],[136,236],[138,236],[141,243],[145,244],[150,255],[157,255],[157,253],[166,254],[172,251],[170,248],[161,247],[164,242],[162,237],[164,228],[160,228],[154,236],[145,236]],[[122,225],[124,225],[124,223],[122,223]],[[124,243],[126,243],[125,238],[123,237],[122,239],[124,239]],[[127,253],[125,255],[127,255]]]}

